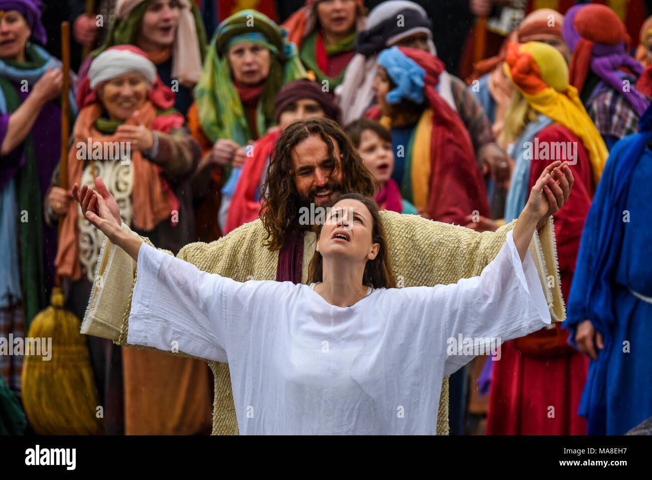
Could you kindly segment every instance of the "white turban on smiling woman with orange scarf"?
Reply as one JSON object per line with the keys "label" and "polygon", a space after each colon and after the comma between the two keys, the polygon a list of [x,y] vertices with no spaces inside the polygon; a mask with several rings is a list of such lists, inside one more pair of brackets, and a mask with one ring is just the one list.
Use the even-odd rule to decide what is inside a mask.
{"label": "white turban on smiling woman with orange scarf", "polygon": [[147,57],[130,50],[108,48],[97,55],[88,70],[91,90],[95,90],[108,80],[128,73],[141,74],[149,85],[156,83],[156,67]]}

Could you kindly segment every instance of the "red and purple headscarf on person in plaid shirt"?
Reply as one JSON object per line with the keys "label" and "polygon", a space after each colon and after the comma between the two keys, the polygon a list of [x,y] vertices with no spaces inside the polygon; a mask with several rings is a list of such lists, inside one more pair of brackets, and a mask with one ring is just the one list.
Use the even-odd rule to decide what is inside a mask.
{"label": "red and purple headscarf on person in plaid shirt", "polygon": [[600,4],[575,5],[564,16],[562,34],[572,52],[570,83],[581,91],[590,68],[604,83],[623,95],[640,117],[649,102],[634,85],[630,85],[629,91],[623,91],[623,79],[617,70],[628,67],[638,77],[644,67],[627,53],[629,35],[615,12]]}

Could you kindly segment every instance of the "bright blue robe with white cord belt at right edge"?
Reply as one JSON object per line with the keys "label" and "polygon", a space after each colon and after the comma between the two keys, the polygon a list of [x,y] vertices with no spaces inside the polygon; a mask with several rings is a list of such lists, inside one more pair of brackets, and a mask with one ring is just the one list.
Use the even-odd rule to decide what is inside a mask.
{"label": "bright blue robe with white cord belt at right edge", "polygon": [[582,233],[567,320],[591,320],[604,349],[589,365],[578,413],[589,435],[625,434],[652,416],[652,108],[617,142]]}

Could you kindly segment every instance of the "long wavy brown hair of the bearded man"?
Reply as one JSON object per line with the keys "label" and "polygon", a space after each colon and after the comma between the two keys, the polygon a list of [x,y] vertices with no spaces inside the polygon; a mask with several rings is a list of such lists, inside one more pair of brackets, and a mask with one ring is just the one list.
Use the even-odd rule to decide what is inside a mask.
{"label": "long wavy brown hair of the bearded man", "polygon": [[[336,177],[338,172],[342,174],[339,187],[334,185],[334,194],[357,192],[374,195],[374,178],[340,125],[329,118],[311,118],[292,123],[276,140],[270,155],[265,183],[259,190],[263,205],[258,215],[267,231],[265,246],[270,250],[280,250],[288,233],[300,230],[301,204],[295,185],[292,151],[300,142],[311,136],[319,136],[328,147],[328,155],[334,165],[331,179]],[[341,158],[335,158],[333,140],[338,144]]]}

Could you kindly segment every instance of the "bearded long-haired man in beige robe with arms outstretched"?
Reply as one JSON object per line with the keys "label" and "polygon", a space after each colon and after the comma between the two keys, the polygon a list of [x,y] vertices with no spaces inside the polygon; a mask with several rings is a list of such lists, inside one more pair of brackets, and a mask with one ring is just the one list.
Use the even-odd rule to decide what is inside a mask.
{"label": "bearded long-haired man in beige robe with arms outstretched", "polygon": [[[101,187],[101,179],[96,179],[96,184],[114,212],[113,216],[120,222],[115,200]],[[186,245],[177,256],[203,271],[241,282],[275,279],[307,283],[316,235],[314,222],[304,221],[306,216],[301,214],[306,208],[316,211],[339,193],[373,195],[374,184],[342,128],[331,119],[313,118],[295,122],[282,132],[261,191],[264,192],[263,205],[258,220],[236,228],[218,241]],[[84,186],[81,191],[75,187],[73,194],[85,215],[93,192]],[[567,196],[567,192],[562,195]],[[381,217],[398,287],[451,284],[460,278],[480,275],[514,226],[512,222],[497,232],[477,233],[417,215],[382,211]],[[550,215],[546,218],[548,220],[537,226],[530,252],[552,318],[561,321],[565,312],[559,291],[554,231]],[[123,228],[129,231],[125,224]],[[144,240],[151,245],[148,239]],[[106,241],[82,333],[128,345],[127,321],[135,282],[136,263]],[[178,351],[178,345],[170,345],[168,353],[184,355]],[[213,434],[237,434],[236,409],[246,415],[248,406],[233,404],[228,365],[208,363],[215,375]],[[436,432],[448,433],[447,378],[441,389]]]}

